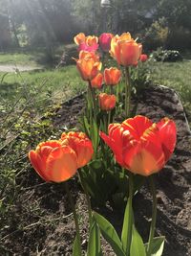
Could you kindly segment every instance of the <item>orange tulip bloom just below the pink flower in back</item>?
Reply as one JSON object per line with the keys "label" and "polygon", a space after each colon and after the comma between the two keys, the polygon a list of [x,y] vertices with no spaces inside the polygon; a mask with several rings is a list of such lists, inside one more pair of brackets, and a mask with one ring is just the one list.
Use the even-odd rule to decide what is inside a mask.
{"label": "orange tulip bloom just below the pink flower in back", "polygon": [[95,53],[81,51],[76,61],[77,69],[84,81],[92,81],[101,69],[101,62]]}

